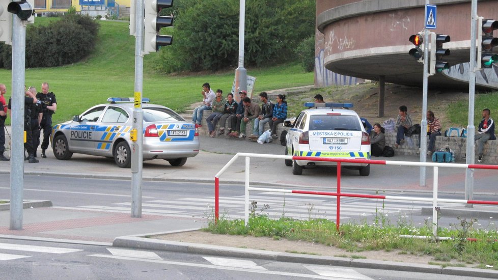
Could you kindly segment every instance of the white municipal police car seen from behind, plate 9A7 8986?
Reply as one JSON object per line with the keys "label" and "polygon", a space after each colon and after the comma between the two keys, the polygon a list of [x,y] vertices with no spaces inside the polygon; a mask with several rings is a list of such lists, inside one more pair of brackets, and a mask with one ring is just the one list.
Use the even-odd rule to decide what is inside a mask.
{"label": "white municipal police car seen from behind, plate 9A7 8986", "polygon": [[[301,111],[289,124],[286,135],[286,155],[334,158],[370,159],[370,137],[355,111],[347,109],[352,103],[305,103],[314,107]],[[285,160],[292,166],[292,174],[301,175],[306,167],[337,165],[336,162]],[[359,175],[370,174],[370,164],[341,163],[341,166],[359,170]]]}

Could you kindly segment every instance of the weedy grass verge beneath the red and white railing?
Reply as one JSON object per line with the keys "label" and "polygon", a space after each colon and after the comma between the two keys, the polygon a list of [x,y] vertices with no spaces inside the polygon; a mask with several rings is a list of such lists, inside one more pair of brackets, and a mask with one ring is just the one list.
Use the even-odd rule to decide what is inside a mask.
{"label": "weedy grass verge beneath the red and white railing", "polygon": [[[253,202],[254,205],[254,202]],[[408,216],[400,216],[392,222],[379,211],[373,222],[349,222],[336,230],[336,223],[326,219],[295,220],[282,216],[270,219],[267,215],[251,209],[248,226],[243,219],[220,218],[209,222],[205,231],[215,234],[267,236],[274,239],[303,240],[336,246],[350,253],[365,250],[400,250],[400,254],[431,256],[431,264],[441,266],[469,266],[498,268],[498,233],[496,230],[474,228],[476,219],[459,219],[449,228],[439,228],[438,236],[451,237],[445,241],[405,238],[400,235],[432,236],[432,225],[415,227]],[[467,238],[476,238],[470,242]]]}

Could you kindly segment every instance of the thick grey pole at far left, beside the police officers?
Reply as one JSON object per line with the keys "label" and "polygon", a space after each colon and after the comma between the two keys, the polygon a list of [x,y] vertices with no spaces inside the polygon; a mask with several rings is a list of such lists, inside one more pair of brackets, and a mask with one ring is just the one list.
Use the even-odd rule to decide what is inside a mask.
{"label": "thick grey pole at far left, beside the police officers", "polygon": [[26,26],[12,17],[12,141],[10,165],[10,229],[22,230],[24,188],[24,66]]}

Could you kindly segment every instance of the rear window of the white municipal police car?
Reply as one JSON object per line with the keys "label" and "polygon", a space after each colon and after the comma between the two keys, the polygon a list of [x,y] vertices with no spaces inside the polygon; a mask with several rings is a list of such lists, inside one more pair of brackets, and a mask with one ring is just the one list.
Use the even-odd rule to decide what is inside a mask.
{"label": "rear window of the white municipal police car", "polygon": [[347,115],[314,115],[310,118],[309,130],[354,130],[362,131],[359,119]]}

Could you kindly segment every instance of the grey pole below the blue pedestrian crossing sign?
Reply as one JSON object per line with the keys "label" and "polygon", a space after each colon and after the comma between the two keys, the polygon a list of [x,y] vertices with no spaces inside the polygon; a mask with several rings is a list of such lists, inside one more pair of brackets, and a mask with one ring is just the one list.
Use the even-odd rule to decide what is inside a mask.
{"label": "grey pole below the blue pedestrian crossing sign", "polygon": [[[420,162],[427,161],[427,79],[429,77],[429,30],[424,31],[424,83],[422,89],[422,121],[420,123]],[[426,169],[420,167],[420,186],[425,186]]]}

